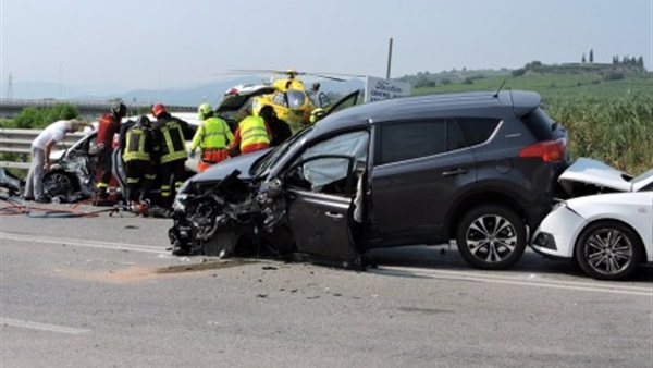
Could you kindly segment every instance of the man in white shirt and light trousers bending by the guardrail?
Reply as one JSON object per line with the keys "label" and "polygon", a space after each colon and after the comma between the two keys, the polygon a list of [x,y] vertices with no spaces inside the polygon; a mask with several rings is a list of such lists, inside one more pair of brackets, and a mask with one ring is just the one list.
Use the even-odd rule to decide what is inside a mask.
{"label": "man in white shirt and light trousers bending by the guardrail", "polygon": [[23,198],[38,203],[49,201],[49,198],[44,196],[44,176],[50,170],[50,150],[57,143],[63,140],[66,133],[77,132],[82,125],[87,125],[87,123],[75,119],[60,120],[48,125],[32,142],[32,165],[27,174]]}

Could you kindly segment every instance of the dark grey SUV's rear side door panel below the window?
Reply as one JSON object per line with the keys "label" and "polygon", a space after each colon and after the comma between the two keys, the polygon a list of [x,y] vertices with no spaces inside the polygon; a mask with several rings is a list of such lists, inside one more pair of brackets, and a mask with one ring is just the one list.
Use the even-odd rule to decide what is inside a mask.
{"label": "dark grey SUV's rear side door panel below the window", "polygon": [[443,241],[446,213],[442,209],[451,208],[458,193],[473,185],[476,164],[469,149],[375,167],[371,175],[369,241],[379,246],[408,240]]}

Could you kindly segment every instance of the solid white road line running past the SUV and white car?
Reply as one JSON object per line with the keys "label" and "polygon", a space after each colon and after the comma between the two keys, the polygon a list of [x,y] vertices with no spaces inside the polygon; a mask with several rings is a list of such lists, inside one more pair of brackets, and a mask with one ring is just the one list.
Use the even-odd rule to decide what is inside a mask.
{"label": "solid white road line running past the SUV and white car", "polygon": [[[520,274],[519,277],[506,277],[501,274],[490,274],[480,272],[467,272],[467,271],[446,271],[446,270],[434,270],[434,269],[417,269],[407,267],[379,267],[377,270],[369,270],[372,273],[380,274],[393,274],[393,275],[416,275],[420,278],[442,279],[442,280],[468,280],[479,281],[496,284],[513,284],[513,285],[525,285],[532,287],[549,287],[549,289],[562,289],[562,290],[574,290],[574,291],[586,291],[594,293],[607,293],[607,294],[625,294],[634,296],[646,296],[653,297],[653,285],[637,286],[637,285],[616,285],[614,283],[602,284],[600,282],[574,282],[574,281],[544,281],[542,279],[533,279],[527,274]],[[521,278],[521,279],[520,279]],[[528,278],[528,279],[525,279]]]}

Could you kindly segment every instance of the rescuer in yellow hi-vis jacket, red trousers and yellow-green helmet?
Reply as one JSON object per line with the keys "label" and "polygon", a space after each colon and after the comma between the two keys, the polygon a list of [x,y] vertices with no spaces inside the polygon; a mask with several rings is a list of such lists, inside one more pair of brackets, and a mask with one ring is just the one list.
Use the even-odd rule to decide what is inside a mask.
{"label": "rescuer in yellow hi-vis jacket, red trousers and yellow-green helmet", "polygon": [[201,157],[197,163],[197,170],[204,172],[212,164],[229,158],[226,146],[234,140],[234,134],[223,119],[214,115],[209,103],[202,103],[197,109],[197,116],[202,121],[195,132],[190,143],[189,157],[195,157],[197,147],[201,149]]}

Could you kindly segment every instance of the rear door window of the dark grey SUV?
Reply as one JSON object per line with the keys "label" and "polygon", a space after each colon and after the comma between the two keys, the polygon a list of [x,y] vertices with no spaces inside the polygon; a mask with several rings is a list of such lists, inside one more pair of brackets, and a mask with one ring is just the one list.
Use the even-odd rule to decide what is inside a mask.
{"label": "rear door window of the dark grey SUV", "polygon": [[378,163],[392,163],[445,152],[446,125],[446,121],[440,119],[381,126]]}

